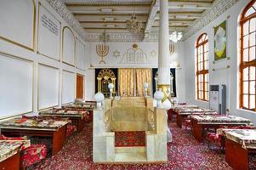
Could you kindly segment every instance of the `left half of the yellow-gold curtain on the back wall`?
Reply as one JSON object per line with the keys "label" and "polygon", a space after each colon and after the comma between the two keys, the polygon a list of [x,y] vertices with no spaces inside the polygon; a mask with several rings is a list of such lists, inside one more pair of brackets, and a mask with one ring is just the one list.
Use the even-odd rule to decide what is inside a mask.
{"label": "left half of the yellow-gold curtain on the back wall", "polygon": [[134,69],[118,69],[119,95],[134,96]]}

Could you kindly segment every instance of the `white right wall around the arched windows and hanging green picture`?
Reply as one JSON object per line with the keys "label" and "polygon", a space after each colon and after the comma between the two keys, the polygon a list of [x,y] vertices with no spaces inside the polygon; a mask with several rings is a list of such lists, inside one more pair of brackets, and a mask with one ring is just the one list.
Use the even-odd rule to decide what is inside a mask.
{"label": "white right wall around the arched windows and hanging green picture", "polygon": [[[209,37],[209,84],[225,84],[227,86],[227,109],[230,114],[250,118],[256,123],[256,113],[238,109],[238,57],[239,57],[239,41],[238,41],[238,20],[242,9],[246,7],[250,0],[242,0],[236,3],[232,8],[221,14],[216,20],[213,20],[208,26],[196,32],[192,37],[184,42],[185,56],[185,99],[186,102],[200,105],[208,108],[208,102],[196,100],[196,82],[195,82],[195,42],[196,39],[204,32]],[[230,16],[230,17],[228,17]],[[227,20],[227,57],[223,61],[213,64],[214,58],[214,33],[213,27],[218,26],[221,22]],[[230,69],[221,70],[227,65]],[[213,71],[217,69],[217,71]],[[220,70],[219,70],[220,69]]]}

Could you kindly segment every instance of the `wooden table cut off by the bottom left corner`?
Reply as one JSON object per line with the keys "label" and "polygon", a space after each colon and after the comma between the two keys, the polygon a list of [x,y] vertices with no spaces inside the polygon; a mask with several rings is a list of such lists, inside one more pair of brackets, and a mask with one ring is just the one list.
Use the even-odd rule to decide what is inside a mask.
{"label": "wooden table cut off by the bottom left corner", "polygon": [[[13,148],[10,149],[10,145],[4,146],[4,144],[14,144]],[[0,141],[0,169],[1,170],[19,170],[20,169],[20,151],[22,143],[19,141]],[[6,150],[9,150],[6,152]],[[5,151],[4,151],[5,150]]]}

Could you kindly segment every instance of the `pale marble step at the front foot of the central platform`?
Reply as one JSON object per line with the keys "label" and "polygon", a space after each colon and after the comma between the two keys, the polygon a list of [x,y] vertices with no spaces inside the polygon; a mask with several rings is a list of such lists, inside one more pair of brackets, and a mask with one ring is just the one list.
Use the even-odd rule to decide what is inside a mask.
{"label": "pale marble step at the front foot of the central platform", "polygon": [[115,163],[146,162],[145,152],[116,153]]}

